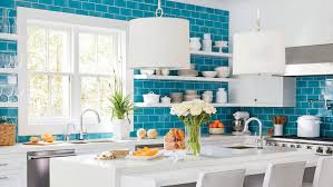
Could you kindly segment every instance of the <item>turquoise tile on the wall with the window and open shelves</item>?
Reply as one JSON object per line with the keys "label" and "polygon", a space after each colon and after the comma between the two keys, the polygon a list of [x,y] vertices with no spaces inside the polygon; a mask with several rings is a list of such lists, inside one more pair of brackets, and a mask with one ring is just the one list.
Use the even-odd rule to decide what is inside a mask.
{"label": "turquoise tile on the wall with the window and open shelves", "polygon": [[[104,17],[119,20],[130,20],[141,17],[154,17],[157,8],[157,0],[6,0],[0,2],[0,10],[10,10],[10,22],[17,14],[17,7],[28,7],[45,9],[50,11],[61,11],[76,14],[92,17]],[[213,40],[228,40],[228,12],[205,7],[178,3],[174,1],[163,1],[163,8],[166,17],[178,17],[188,19],[190,22],[190,36],[202,37],[203,33],[212,33]],[[176,41],[175,41],[176,42]],[[14,42],[1,41],[0,49],[16,50]],[[192,62],[196,63],[197,70],[213,70],[214,67],[228,65],[227,59],[209,59],[192,57]],[[217,88],[227,88],[226,83],[207,82],[182,82],[182,81],[135,81],[135,100],[140,101],[141,94],[155,91],[167,95],[172,91],[183,91],[185,89],[198,88],[203,90],[217,90]],[[9,109],[2,109],[9,110]],[[233,108],[218,109],[214,119],[224,119],[231,130],[231,115]],[[17,119],[17,116],[12,116]],[[168,128],[182,127],[179,121],[169,115],[168,108],[135,109],[135,129],[137,128],[157,128],[160,135],[164,135]],[[203,128],[207,132],[207,128]],[[109,135],[102,135],[109,136]],[[91,135],[91,138],[100,135]],[[20,141],[29,137],[19,137]],[[61,138],[61,137],[59,137]]]}

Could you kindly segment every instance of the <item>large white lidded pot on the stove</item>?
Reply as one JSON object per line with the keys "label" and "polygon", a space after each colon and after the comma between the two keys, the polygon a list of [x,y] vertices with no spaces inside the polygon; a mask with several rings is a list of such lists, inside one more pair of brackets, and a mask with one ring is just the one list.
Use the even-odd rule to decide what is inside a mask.
{"label": "large white lidded pot on the stove", "polygon": [[316,116],[305,115],[297,119],[297,136],[298,137],[320,137],[321,119]]}

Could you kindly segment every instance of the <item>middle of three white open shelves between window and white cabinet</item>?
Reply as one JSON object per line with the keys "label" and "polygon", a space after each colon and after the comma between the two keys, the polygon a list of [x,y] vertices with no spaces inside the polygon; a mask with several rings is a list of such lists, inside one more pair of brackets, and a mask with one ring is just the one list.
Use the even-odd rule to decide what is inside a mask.
{"label": "middle of three white open shelves between window and white cabinet", "polygon": [[134,79],[147,79],[147,80],[187,80],[187,81],[210,81],[210,82],[228,82],[232,78],[207,78],[207,77],[186,77],[186,76],[147,76],[135,75]]}

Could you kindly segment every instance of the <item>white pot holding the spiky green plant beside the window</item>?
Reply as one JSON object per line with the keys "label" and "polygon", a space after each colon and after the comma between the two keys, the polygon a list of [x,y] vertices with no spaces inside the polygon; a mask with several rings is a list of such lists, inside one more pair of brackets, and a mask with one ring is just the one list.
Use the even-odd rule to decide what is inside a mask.
{"label": "white pot holding the spiky green plant beside the window", "polygon": [[114,119],[112,125],[115,139],[129,139],[130,125],[127,119]]}

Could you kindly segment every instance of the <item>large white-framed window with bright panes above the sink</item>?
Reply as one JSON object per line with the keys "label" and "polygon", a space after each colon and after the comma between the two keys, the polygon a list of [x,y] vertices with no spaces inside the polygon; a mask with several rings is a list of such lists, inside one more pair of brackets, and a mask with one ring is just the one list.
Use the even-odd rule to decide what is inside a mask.
{"label": "large white-framed window with bright panes above the sink", "polygon": [[133,72],[125,68],[126,23],[81,17],[19,8],[18,26],[27,39],[18,46],[25,55],[19,71],[19,89],[25,92],[20,135],[62,134],[67,124],[78,125],[88,108],[102,119],[98,126],[91,121],[88,131],[110,131],[108,98],[115,76],[131,92]]}

